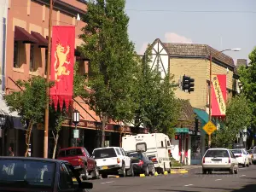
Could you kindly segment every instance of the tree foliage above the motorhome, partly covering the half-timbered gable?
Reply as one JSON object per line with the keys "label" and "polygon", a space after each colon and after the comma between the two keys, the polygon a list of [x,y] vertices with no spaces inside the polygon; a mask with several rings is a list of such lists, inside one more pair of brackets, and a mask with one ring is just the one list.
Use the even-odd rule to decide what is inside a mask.
{"label": "tree foliage above the motorhome, partly covering the half-timbered gable", "polygon": [[172,128],[177,124],[181,109],[174,96],[173,76],[168,74],[165,79],[161,79],[160,72],[151,69],[150,52],[151,47],[148,46],[142,64],[139,65],[140,73],[137,73],[137,91],[133,96],[137,103],[135,125],[144,125],[150,132],[159,131],[172,135]]}

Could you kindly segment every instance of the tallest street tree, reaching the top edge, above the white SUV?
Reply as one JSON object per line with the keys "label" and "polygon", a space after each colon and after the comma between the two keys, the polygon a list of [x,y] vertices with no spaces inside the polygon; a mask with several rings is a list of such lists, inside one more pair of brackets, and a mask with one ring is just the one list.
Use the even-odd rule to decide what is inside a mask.
{"label": "tallest street tree, reaching the top edge, above the white SUV", "polygon": [[[87,104],[102,121],[102,147],[105,146],[105,126],[108,119],[131,111],[132,73],[136,67],[134,45],[129,40],[129,18],[125,15],[125,0],[95,0],[87,3],[80,46],[90,59],[89,96]],[[119,119],[119,118],[117,118]]]}

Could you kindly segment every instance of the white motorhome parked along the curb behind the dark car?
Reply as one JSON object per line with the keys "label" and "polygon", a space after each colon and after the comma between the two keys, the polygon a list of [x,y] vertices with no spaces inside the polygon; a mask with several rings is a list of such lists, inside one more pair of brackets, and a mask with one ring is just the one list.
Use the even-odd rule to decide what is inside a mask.
{"label": "white motorhome parked along the curb behind the dark car", "polygon": [[142,150],[141,146],[146,146],[144,154],[154,162],[157,172],[171,172],[171,142],[168,136],[163,133],[148,133],[122,137],[122,148],[126,153]]}

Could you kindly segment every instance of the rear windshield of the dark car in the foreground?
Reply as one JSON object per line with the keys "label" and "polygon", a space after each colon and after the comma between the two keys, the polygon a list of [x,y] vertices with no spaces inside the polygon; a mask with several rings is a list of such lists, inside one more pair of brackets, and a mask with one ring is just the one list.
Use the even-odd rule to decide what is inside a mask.
{"label": "rear windshield of the dark car in the foreground", "polygon": [[0,186],[52,187],[55,163],[39,160],[0,160]]}

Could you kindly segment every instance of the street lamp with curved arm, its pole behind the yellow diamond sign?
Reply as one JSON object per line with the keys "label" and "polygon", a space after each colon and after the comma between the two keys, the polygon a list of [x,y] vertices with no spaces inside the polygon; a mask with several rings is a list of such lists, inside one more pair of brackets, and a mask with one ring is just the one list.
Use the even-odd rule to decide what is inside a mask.
{"label": "street lamp with curved arm, its pole behind the yellow diamond sign", "polygon": [[[241,48],[233,48],[233,49],[224,49],[221,51],[218,51],[215,55],[217,56],[218,54],[223,53],[226,50],[231,50],[231,51],[240,51]],[[210,88],[209,88],[209,121],[212,120],[212,53],[210,53]],[[212,141],[211,134],[208,135],[208,148],[211,148]]]}

